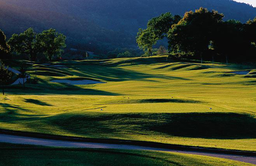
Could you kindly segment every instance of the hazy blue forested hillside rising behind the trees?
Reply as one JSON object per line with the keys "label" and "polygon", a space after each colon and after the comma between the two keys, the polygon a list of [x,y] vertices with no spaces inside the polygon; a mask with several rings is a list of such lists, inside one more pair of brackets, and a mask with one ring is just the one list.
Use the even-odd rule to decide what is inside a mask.
{"label": "hazy blue forested hillside rising behind the trees", "polygon": [[245,22],[256,16],[256,8],[232,0],[0,0],[0,28],[9,36],[30,26],[38,31],[53,27],[68,35],[70,43],[91,50],[131,47],[148,19],[167,11],[183,15],[201,6],[224,13],[225,19]]}

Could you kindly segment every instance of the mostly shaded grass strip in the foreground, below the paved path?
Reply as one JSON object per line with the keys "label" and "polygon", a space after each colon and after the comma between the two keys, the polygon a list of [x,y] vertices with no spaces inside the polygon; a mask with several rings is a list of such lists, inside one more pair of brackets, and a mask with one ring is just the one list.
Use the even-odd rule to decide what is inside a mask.
{"label": "mostly shaded grass strip in the foreground, below the paved path", "polygon": [[48,148],[0,143],[0,166],[252,166],[199,155],[156,151]]}

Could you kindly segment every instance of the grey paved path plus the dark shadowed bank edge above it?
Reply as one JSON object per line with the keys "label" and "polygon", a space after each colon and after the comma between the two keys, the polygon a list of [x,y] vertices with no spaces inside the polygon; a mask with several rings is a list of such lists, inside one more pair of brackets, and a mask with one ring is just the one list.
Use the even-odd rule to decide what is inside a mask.
{"label": "grey paved path plus the dark shadowed bank edge above it", "polygon": [[256,152],[225,150],[216,148],[180,146],[147,141],[129,141],[115,139],[90,139],[81,137],[65,137],[50,134],[32,132],[16,132],[0,130],[0,142],[42,145],[50,147],[80,147],[103,149],[127,149],[127,150],[155,150],[175,152],[193,155],[204,155],[218,158],[226,158],[256,165]]}

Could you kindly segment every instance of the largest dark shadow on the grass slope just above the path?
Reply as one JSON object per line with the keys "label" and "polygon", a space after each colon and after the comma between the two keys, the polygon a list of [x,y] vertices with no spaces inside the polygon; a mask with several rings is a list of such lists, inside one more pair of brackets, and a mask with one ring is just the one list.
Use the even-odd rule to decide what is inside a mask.
{"label": "largest dark shadow on the grass slope just above the path", "polygon": [[47,121],[63,131],[84,136],[156,134],[205,139],[256,138],[256,118],[235,113],[85,113],[59,115]]}

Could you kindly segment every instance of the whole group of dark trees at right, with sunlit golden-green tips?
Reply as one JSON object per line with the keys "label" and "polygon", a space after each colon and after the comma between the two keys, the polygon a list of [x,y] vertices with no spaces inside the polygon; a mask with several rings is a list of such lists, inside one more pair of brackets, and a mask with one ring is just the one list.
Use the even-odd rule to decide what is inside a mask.
{"label": "whole group of dark trees at right, with sunlit golden-green tips", "polygon": [[225,58],[226,63],[255,60],[256,18],[243,24],[223,21],[223,17],[202,7],[186,12],[183,18],[165,13],[149,20],[147,29],[139,29],[137,43],[149,56],[154,44],[167,37],[169,53],[180,57],[200,57],[201,62]]}

